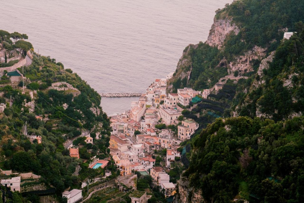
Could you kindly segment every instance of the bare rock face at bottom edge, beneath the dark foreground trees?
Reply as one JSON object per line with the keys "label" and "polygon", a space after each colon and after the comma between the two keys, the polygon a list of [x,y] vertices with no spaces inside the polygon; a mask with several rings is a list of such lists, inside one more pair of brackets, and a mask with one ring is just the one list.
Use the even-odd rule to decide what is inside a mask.
{"label": "bare rock face at bottom edge, beneath the dark foreground trees", "polygon": [[206,202],[202,197],[202,192],[193,187],[189,187],[189,181],[181,177],[178,184],[179,198],[174,203]]}

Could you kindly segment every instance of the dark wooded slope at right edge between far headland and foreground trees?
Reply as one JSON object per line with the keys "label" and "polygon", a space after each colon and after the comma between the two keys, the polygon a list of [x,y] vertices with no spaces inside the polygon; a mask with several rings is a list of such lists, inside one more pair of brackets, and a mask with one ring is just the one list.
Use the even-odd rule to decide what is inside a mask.
{"label": "dark wooded slope at right edge between far headland and foreground trees", "polygon": [[[297,23],[303,28],[303,23]],[[302,62],[304,59],[304,32],[298,29],[290,40],[285,40],[276,50],[275,56],[263,76],[254,75],[242,89],[249,89],[244,94],[240,89],[235,105],[240,105],[241,116],[256,116],[256,110],[270,115],[275,121],[288,117],[293,112],[304,108],[304,75]],[[253,81],[265,81],[257,88],[252,87]],[[288,83],[289,85],[286,85]]]}

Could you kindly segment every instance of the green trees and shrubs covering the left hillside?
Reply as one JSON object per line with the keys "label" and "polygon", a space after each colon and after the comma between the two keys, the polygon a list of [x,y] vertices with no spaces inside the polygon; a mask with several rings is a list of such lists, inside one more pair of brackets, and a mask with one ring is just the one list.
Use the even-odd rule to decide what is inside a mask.
{"label": "green trees and shrubs covering the left hillside", "polygon": [[[81,159],[71,158],[69,150],[64,147],[68,138],[78,137],[81,132],[90,130],[94,144],[86,144],[79,138],[74,141],[76,145],[83,145],[79,149],[80,158],[108,156],[111,128],[109,118],[99,106],[100,95],[71,69],[64,69],[62,63],[50,57],[38,58],[34,55],[33,63],[24,67],[24,75],[27,78],[24,92],[22,81],[19,86],[14,84],[15,88],[11,85],[0,87],[0,103],[6,103],[12,96],[12,107],[7,103],[7,108],[0,113],[0,168],[41,175],[40,181],[47,187],[55,187],[59,197],[69,187],[80,188],[81,181],[87,177],[103,176],[103,169],[89,169],[89,161],[84,164]],[[54,82],[65,82],[74,89],[51,88]],[[42,137],[41,144],[37,140],[31,143],[23,135],[25,124],[29,135]],[[99,139],[95,139],[96,134],[100,134]],[[82,167],[79,176],[73,175],[76,165]],[[112,162],[107,169],[113,172],[113,176],[117,175]],[[20,202],[31,199],[30,196],[19,198]],[[32,202],[38,201],[39,198],[36,198]]]}

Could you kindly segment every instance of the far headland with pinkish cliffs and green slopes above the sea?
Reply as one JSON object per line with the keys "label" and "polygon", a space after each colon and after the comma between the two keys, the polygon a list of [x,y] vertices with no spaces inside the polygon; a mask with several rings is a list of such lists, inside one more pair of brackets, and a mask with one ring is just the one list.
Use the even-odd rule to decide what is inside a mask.
{"label": "far headland with pinkish cliffs and green slopes above the sea", "polygon": [[168,91],[202,90],[225,74],[255,72],[261,60],[276,49],[283,32],[295,31],[294,23],[303,20],[303,4],[298,0],[240,0],[218,9],[206,45],[201,42],[185,48]]}

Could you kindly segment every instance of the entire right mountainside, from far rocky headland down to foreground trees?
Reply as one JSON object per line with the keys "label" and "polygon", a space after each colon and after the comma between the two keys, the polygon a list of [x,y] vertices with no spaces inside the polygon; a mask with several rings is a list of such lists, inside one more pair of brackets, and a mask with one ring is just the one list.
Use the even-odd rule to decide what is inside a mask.
{"label": "entire right mountainside, from far rocky headland down to foreground trees", "polygon": [[[244,77],[227,80],[188,112],[199,110],[194,119],[205,125],[214,114],[224,119],[182,143],[189,168],[176,202],[301,202],[303,8],[295,0],[234,1],[216,11],[206,43],[185,49],[188,69],[180,60],[169,91]],[[285,31],[297,33],[282,40]]]}

